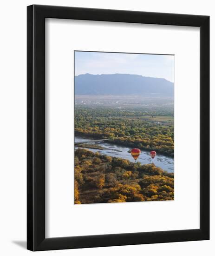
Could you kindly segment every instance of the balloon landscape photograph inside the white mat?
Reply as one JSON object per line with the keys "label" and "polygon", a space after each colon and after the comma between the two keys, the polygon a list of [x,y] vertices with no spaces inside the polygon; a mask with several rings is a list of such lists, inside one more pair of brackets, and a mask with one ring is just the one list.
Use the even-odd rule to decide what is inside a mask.
{"label": "balloon landscape photograph inside the white mat", "polygon": [[74,204],[174,200],[174,55],[74,51]]}

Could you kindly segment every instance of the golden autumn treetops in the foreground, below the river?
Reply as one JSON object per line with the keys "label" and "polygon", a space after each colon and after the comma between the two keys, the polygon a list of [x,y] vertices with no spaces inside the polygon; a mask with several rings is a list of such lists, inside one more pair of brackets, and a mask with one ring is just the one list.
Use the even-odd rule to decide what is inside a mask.
{"label": "golden autumn treetops in the foreground, below the river", "polygon": [[174,174],[78,148],[74,191],[75,204],[174,200]]}

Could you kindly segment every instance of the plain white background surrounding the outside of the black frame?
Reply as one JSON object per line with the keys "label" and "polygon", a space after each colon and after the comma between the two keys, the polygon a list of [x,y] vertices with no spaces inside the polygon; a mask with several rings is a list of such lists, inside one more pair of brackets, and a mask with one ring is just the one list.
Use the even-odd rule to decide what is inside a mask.
{"label": "plain white background surrounding the outside of the black frame", "polygon": [[[43,0],[1,2],[0,15],[0,251],[4,256],[30,255],[26,244],[26,6],[31,4],[95,7],[210,15],[211,70],[215,69],[215,9],[211,0]],[[212,72],[211,72],[212,73]],[[211,74],[211,85],[215,75]],[[215,88],[211,86],[211,97]],[[215,101],[211,102],[211,109]],[[211,130],[215,120],[211,115]],[[211,144],[215,136],[211,134]],[[211,155],[213,155],[213,151]],[[195,161],[195,156],[192,161]],[[211,181],[215,179],[211,163]],[[43,255],[210,255],[215,249],[215,190],[211,184],[211,240],[109,248],[38,252]],[[177,220],[176,220],[177,221]]]}

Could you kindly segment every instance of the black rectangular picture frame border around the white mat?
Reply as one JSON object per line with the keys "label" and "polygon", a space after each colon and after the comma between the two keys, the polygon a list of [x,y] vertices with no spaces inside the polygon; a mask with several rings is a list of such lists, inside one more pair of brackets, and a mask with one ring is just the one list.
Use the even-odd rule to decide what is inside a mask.
{"label": "black rectangular picture frame border around the white mat", "polygon": [[[200,229],[45,237],[45,19],[200,27]],[[77,7],[27,7],[27,249],[32,251],[209,239],[209,16]],[[195,161],[195,159],[193,159]]]}

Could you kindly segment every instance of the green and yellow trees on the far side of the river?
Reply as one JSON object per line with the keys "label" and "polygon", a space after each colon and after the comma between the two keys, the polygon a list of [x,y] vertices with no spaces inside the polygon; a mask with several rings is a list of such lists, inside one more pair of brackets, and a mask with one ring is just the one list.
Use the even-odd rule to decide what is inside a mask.
{"label": "green and yellow trees on the far side of the river", "polygon": [[[172,112],[78,106],[75,108],[75,135],[94,139],[109,138],[109,142],[118,145],[174,155]],[[156,121],[156,116],[159,121]]]}

